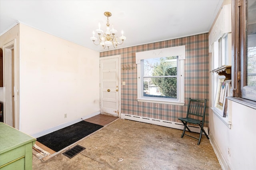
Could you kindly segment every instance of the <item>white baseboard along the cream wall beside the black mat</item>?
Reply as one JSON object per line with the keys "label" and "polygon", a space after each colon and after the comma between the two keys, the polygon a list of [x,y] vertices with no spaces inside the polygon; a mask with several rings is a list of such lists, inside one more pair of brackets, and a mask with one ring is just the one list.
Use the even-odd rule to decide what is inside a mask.
{"label": "white baseboard along the cream wall beside the black mat", "polygon": [[74,121],[70,121],[70,122],[64,123],[62,125],[58,125],[56,127],[52,127],[52,128],[43,130],[43,131],[35,133],[35,134],[30,134],[30,136],[33,136],[34,138],[38,138],[40,136],[44,136],[44,135],[49,134],[51,132],[55,132],[56,130],[60,130],[60,129],[64,128],[64,127],[68,127],[68,126],[73,125],[75,123],[78,123],[78,122],[80,122],[80,121],[82,121],[84,119],[89,119],[90,117],[94,117],[94,116],[99,115],[99,114],[100,114],[100,111],[94,112],[94,113],[92,113],[90,115],[86,115],[86,116],[84,116],[84,117],[82,117],[80,119],[76,119]]}

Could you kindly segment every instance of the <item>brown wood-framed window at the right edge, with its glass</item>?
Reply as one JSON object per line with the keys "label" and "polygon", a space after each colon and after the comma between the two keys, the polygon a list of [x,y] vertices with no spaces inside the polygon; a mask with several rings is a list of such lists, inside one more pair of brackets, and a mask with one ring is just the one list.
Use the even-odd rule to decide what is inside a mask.
{"label": "brown wood-framed window at the right edge, with its glass", "polygon": [[233,97],[256,101],[256,1],[232,2]]}

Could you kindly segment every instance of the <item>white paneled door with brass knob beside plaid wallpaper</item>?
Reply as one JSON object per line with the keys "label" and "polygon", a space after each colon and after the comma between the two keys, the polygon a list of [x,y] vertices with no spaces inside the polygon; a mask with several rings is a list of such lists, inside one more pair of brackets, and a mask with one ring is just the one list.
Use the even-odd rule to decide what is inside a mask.
{"label": "white paneled door with brass knob beside plaid wallpaper", "polygon": [[100,112],[119,116],[119,55],[113,57],[100,58]]}

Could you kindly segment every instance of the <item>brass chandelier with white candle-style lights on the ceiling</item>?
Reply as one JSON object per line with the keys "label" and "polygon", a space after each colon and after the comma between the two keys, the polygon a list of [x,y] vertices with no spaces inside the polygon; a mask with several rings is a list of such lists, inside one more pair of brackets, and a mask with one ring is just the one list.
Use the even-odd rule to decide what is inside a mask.
{"label": "brass chandelier with white candle-style lights on the ceiling", "polygon": [[[104,12],[104,15],[108,18],[110,16],[112,16],[111,12]],[[100,23],[98,24],[99,26],[99,29],[96,29],[95,32],[98,33],[98,36],[99,36],[99,43],[96,44],[95,41],[98,40],[98,38],[95,37],[95,32],[93,31],[92,34],[93,36],[90,37],[90,39],[92,40],[92,42],[95,44],[95,45],[102,45],[103,49],[105,49],[105,47],[107,46],[108,49],[111,45],[114,46],[114,48],[117,47],[117,45],[121,45],[124,40],[126,40],[126,37],[124,36],[124,32],[122,30],[122,36],[120,37],[120,40],[122,40],[122,43],[119,43],[118,42],[118,37],[115,36],[117,30],[114,29],[114,26],[112,25],[112,29],[110,30],[109,26],[109,20],[107,19],[107,30],[106,32],[103,34],[103,30],[100,30]]]}

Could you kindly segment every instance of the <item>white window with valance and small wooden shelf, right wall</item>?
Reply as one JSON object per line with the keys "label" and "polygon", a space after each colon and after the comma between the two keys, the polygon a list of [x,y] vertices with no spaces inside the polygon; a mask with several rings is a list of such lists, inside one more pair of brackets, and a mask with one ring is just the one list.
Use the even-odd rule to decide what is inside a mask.
{"label": "white window with valance and small wooden shelf, right wall", "polygon": [[230,127],[231,113],[228,113],[226,96],[229,95],[227,93],[230,90],[228,82],[231,79],[231,38],[231,4],[226,4],[221,8],[209,34],[209,49],[212,52],[211,109],[228,127]]}

